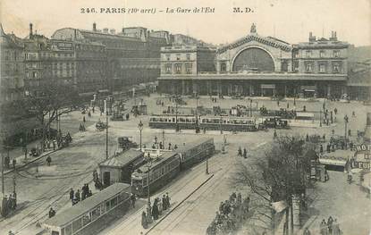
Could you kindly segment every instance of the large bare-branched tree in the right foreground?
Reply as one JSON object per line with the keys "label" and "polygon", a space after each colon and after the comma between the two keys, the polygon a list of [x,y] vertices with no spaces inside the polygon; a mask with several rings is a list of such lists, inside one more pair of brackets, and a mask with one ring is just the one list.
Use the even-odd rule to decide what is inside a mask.
{"label": "large bare-branched tree in the right foreground", "polygon": [[292,204],[292,196],[305,193],[308,187],[307,173],[310,171],[310,155],[313,146],[303,138],[280,136],[263,157],[251,159],[249,165],[238,165],[232,177],[236,187],[248,187],[251,198],[252,221],[272,229],[274,211],[271,204],[285,201]]}

